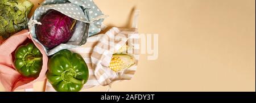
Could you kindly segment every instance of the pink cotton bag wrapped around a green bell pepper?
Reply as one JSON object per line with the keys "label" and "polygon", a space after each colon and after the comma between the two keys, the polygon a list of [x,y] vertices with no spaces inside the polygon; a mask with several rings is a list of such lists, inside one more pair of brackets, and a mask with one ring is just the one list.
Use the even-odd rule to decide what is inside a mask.
{"label": "pink cotton bag wrapped around a green bell pepper", "polygon": [[31,38],[30,32],[28,32],[28,30],[23,30],[5,41],[2,40],[2,43],[0,41],[0,81],[6,91],[11,92],[18,89],[32,88],[32,84],[36,81],[43,81],[46,79],[48,57],[44,52],[43,47],[35,41],[33,41],[35,46],[43,54],[43,66],[38,78],[26,78],[20,75],[14,68],[13,53],[16,48],[24,44],[24,42],[31,40]]}

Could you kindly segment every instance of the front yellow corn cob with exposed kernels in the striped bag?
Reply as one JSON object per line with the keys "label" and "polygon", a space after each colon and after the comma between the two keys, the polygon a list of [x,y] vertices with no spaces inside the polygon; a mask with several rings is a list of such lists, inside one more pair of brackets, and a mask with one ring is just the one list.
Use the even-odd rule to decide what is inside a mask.
{"label": "front yellow corn cob with exposed kernels in the striped bag", "polygon": [[127,54],[113,54],[110,61],[109,68],[114,72],[125,70],[126,68],[134,65],[135,59],[131,55]]}

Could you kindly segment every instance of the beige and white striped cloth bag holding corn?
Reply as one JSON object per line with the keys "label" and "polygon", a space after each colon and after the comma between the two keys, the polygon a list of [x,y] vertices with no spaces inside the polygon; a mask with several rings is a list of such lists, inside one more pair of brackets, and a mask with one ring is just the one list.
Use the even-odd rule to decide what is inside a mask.
{"label": "beige and white striped cloth bag holding corn", "polygon": [[[139,11],[135,11],[133,28],[114,27],[105,34],[89,37],[86,44],[81,47],[69,49],[82,55],[89,68],[89,79],[82,89],[109,85],[108,91],[110,91],[112,83],[133,78],[139,60],[138,15]],[[136,60],[135,65],[122,72],[114,72],[109,68],[112,55],[125,44],[131,47],[127,53],[133,55]],[[109,48],[104,48],[104,46]],[[48,81],[46,91],[55,91]]]}

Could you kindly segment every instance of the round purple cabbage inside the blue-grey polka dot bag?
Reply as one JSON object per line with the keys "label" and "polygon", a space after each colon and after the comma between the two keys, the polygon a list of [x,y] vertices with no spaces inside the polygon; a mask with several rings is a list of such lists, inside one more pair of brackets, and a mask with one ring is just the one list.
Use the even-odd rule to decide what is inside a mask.
{"label": "round purple cabbage inside the blue-grey polka dot bag", "polygon": [[66,43],[73,36],[76,20],[61,14],[56,10],[49,10],[40,19],[42,25],[36,25],[36,36],[47,48]]}

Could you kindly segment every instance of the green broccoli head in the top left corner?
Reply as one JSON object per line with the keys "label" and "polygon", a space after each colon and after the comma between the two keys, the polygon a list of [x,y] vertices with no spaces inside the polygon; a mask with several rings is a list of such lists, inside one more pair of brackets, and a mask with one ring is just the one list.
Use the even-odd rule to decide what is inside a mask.
{"label": "green broccoli head in the top left corner", "polygon": [[0,1],[0,36],[8,38],[27,28],[28,18],[34,4],[27,0]]}

